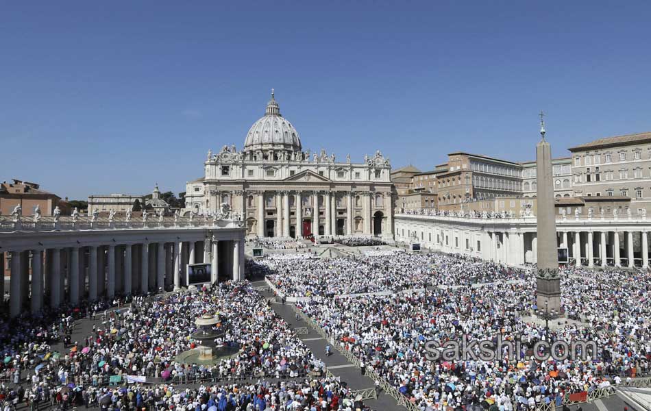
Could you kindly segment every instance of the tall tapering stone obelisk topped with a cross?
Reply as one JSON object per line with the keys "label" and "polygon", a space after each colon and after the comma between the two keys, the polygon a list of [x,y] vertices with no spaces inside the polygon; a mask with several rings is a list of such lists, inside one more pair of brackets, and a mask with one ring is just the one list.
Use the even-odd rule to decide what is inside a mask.
{"label": "tall tapering stone obelisk topped with a cross", "polygon": [[540,113],[541,140],[536,146],[537,167],[537,271],[536,289],[539,310],[548,314],[561,312],[561,277],[558,273],[554,183],[552,181],[552,146],[545,140],[545,122]]}

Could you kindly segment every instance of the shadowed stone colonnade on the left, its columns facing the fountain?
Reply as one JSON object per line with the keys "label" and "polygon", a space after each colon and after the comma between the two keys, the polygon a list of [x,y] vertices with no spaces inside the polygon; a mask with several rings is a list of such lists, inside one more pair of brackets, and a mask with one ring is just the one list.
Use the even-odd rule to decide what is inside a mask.
{"label": "shadowed stone colonnade on the left, its columns facing the fountain", "polygon": [[[241,221],[61,221],[0,224],[0,272],[10,267],[10,314],[116,295],[174,290],[186,264],[211,282],[244,277]],[[0,292],[4,294],[4,282]]]}

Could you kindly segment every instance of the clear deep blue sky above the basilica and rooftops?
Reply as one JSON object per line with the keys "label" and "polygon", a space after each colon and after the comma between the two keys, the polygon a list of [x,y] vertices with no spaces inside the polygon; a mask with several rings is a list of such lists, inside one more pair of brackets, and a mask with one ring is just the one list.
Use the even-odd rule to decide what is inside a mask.
{"label": "clear deep blue sky above the basilica and rooftops", "polygon": [[[406,5],[405,5],[406,4]],[[237,8],[234,8],[237,6]],[[276,90],[304,149],[431,169],[651,130],[649,2],[0,5],[0,180],[180,192]]]}

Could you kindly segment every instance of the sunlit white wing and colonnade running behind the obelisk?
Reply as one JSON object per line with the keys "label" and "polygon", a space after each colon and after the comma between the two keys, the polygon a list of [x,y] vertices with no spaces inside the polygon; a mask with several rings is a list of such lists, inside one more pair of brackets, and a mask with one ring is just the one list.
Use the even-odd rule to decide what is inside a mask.
{"label": "sunlit white wing and colonnade running behind the obelisk", "polygon": [[[576,266],[649,266],[646,216],[556,218],[556,237]],[[395,239],[423,247],[503,262],[535,264],[536,218],[482,218],[395,214]],[[563,262],[559,257],[559,262]]]}

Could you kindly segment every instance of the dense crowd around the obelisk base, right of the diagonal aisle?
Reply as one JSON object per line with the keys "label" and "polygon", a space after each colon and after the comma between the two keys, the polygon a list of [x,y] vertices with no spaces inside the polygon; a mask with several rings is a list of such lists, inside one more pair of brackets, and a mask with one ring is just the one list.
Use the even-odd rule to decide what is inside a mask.
{"label": "dense crowd around the obelisk base, right of the diagonal aisle", "polygon": [[[445,260],[454,258],[446,256]],[[486,263],[484,263],[486,264]],[[490,264],[486,264],[491,266]],[[476,273],[479,262],[459,259],[441,274]],[[464,268],[465,267],[465,268]],[[485,269],[486,267],[484,267]],[[504,270],[501,271],[504,275]],[[546,329],[523,316],[535,310],[535,281],[490,282],[457,288],[359,298],[317,296],[299,307],[334,336],[344,349],[371,367],[420,406],[482,406],[525,410],[560,401],[563,395],[608,386],[646,375],[651,361],[651,275],[563,271],[563,306],[587,324],[563,320]],[[481,276],[482,278],[485,275]],[[430,361],[428,340],[504,340],[522,342],[515,358],[493,361]],[[593,340],[600,352],[587,360],[539,362],[529,359],[534,343]]]}

